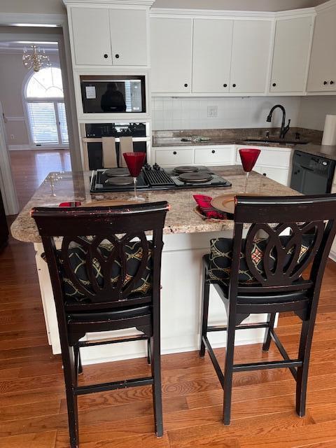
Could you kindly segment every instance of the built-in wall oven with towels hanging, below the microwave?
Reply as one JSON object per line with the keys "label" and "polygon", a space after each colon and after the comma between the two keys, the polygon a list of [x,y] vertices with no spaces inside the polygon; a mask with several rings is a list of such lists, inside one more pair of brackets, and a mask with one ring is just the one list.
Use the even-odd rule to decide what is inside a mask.
{"label": "built-in wall oven with towels hanging, below the microwave", "polygon": [[146,123],[86,123],[80,130],[85,171],[123,167],[122,152],[148,152]]}

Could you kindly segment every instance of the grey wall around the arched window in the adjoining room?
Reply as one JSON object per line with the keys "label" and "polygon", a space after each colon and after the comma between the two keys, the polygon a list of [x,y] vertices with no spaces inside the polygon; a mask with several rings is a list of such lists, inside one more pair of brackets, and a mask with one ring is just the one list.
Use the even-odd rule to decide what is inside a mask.
{"label": "grey wall around the arched window in the adjoining room", "polygon": [[[57,53],[45,54],[50,57],[52,65],[59,66]],[[28,123],[25,122],[22,104],[22,83],[27,73],[22,64],[22,54],[0,53],[0,102],[8,118],[5,126],[9,146],[29,145]]]}

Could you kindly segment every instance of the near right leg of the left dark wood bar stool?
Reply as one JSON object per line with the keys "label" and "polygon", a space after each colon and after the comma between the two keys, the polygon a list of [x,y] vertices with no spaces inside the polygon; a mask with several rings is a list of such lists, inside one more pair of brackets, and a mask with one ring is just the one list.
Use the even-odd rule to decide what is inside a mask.
{"label": "near right leg of the left dark wood bar stool", "polygon": [[154,420],[155,433],[157,437],[163,435],[163,421],[162,421],[162,394],[161,394],[161,353],[160,353],[160,317],[153,319],[153,336],[151,337],[151,367],[152,377],[154,383],[153,390],[153,405],[154,405]]}

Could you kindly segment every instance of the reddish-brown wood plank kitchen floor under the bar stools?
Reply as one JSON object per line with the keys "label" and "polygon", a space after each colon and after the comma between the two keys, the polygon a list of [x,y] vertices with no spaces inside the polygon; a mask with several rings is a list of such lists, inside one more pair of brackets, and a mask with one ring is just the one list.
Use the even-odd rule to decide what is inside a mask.
{"label": "reddish-brown wood plank kitchen floor under the bar stools", "polygon": [[[336,264],[328,262],[311,355],[307,415],[295,414],[286,370],[234,375],[232,424],[221,423],[223,392],[209,357],[162,356],[165,435],[153,434],[151,387],[79,397],[80,448],[335,448]],[[278,333],[297,351],[300,321],[279,318]],[[111,347],[113,350],[113,346]],[[217,351],[221,363],[224,352]],[[238,346],[235,360],[273,360],[271,345]],[[80,382],[148,374],[145,359],[84,367]],[[60,356],[52,356],[38,289],[34,249],[10,239],[0,255],[0,447],[69,448]]]}

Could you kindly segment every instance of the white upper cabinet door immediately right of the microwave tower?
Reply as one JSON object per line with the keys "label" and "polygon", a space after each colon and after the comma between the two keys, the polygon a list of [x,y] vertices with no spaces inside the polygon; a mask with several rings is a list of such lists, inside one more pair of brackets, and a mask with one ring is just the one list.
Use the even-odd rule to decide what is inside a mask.
{"label": "white upper cabinet door immediately right of the microwave tower", "polygon": [[191,92],[192,19],[151,18],[152,91]]}

